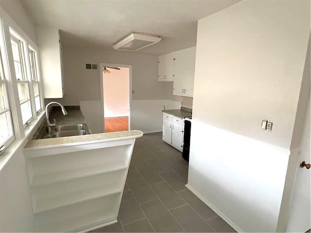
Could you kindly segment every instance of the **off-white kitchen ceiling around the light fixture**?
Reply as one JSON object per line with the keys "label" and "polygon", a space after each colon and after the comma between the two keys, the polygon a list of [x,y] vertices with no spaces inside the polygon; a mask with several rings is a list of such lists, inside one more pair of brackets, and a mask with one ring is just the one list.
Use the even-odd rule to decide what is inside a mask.
{"label": "off-white kitchen ceiling around the light fixture", "polygon": [[138,50],[165,54],[196,45],[197,20],[240,0],[21,0],[36,25],[60,29],[62,44],[113,50],[133,32],[159,35]]}

